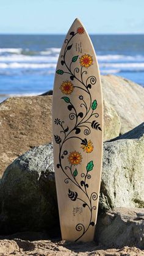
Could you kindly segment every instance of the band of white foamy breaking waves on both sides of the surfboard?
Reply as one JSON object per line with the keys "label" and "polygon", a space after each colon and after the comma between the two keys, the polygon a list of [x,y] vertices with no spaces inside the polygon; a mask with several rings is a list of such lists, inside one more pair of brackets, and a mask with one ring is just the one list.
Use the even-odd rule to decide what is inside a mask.
{"label": "band of white foamy breaking waves on both sides of the surfboard", "polygon": [[[23,54],[26,51],[26,55]],[[7,54],[5,54],[7,53]],[[37,55],[28,55],[29,49],[21,48],[0,48],[0,69],[7,70],[46,70],[47,74],[54,73],[60,48],[46,48],[45,51],[37,52]],[[31,52],[30,52],[31,54]],[[35,54],[35,53],[34,53]],[[124,54],[98,54],[99,67],[101,73],[119,73],[120,71],[143,71],[144,55],[124,55]],[[0,75],[3,75],[1,71]],[[5,71],[4,71],[5,72]],[[9,74],[5,74],[9,75]]]}

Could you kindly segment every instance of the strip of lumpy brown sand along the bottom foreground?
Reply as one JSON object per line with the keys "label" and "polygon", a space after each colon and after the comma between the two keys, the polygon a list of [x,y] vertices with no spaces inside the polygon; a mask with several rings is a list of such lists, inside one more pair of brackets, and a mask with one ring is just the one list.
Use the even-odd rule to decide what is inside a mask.
{"label": "strip of lumpy brown sand along the bottom foreground", "polygon": [[70,243],[60,240],[29,241],[14,238],[0,240],[0,256],[5,255],[95,255],[95,256],[143,256],[144,251],[136,247],[107,249],[92,243]]}

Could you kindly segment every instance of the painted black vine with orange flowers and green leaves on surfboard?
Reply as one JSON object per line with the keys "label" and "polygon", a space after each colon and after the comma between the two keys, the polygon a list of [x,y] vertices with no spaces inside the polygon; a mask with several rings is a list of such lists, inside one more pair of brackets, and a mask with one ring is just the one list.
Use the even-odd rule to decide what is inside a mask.
{"label": "painted black vine with orange flowers and green leaves on surfboard", "polygon": [[[60,86],[61,92],[65,94],[61,99],[66,104],[66,110],[70,111],[70,114],[68,113],[68,122],[65,123],[58,118],[54,120],[54,123],[60,127],[60,133],[54,134],[55,142],[56,144],[59,144],[59,162],[57,163],[57,168],[62,170],[63,174],[65,174],[64,182],[67,184],[70,182],[76,187],[76,191],[71,191],[70,188],[68,188],[69,199],[71,201],[79,200],[79,202],[81,202],[81,207],[87,207],[89,211],[87,223],[83,221],[78,223],[75,227],[77,233],[80,234],[77,235],[78,237],[75,241],[80,240],[90,226],[95,226],[95,222],[93,222],[93,211],[96,210],[95,200],[98,199],[98,194],[96,192],[90,194],[90,191],[88,190],[88,187],[90,186],[88,180],[90,180],[91,173],[93,173],[93,160],[90,159],[87,165],[85,167],[82,166],[81,168],[82,155],[79,151],[83,150],[84,153],[90,154],[93,152],[94,148],[93,142],[90,139],[82,139],[82,133],[84,133],[85,136],[88,136],[92,129],[97,132],[101,131],[101,125],[96,120],[99,117],[96,110],[98,102],[93,98],[93,95],[90,92],[92,86],[95,86],[96,84],[96,77],[94,75],[88,76],[87,71],[87,68],[93,64],[93,57],[90,54],[83,54],[82,56],[77,54],[76,56],[71,56],[70,54],[71,57],[68,55],[68,52],[73,48],[73,43],[71,43],[73,37],[81,36],[84,32],[84,27],[82,26],[77,27],[76,31],[70,32],[70,38],[65,39],[63,55],[60,56],[62,58],[61,67],[59,70],[56,70],[58,75],[62,76],[64,73],[67,73],[70,77],[68,78],[70,80],[63,81]],[[74,62],[75,65],[73,65]],[[71,93],[75,87],[82,93],[82,95],[81,93],[80,95],[77,95],[77,102],[79,103],[81,111],[77,110],[76,105],[71,99]],[[74,123],[72,128],[69,126],[71,120],[73,120]],[[80,141],[79,149],[68,153],[64,148],[65,142],[68,142],[68,140],[71,139]],[[63,162],[63,159],[66,158],[68,159],[67,166],[65,166]],[[83,193],[82,198],[79,196],[79,191]]]}

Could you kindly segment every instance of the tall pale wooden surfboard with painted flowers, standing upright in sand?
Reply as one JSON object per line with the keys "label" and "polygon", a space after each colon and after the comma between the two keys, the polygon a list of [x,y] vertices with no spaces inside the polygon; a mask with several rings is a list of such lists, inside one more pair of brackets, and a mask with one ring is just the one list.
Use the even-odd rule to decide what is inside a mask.
{"label": "tall pale wooden surfboard with painted flowers, standing upright in sand", "polygon": [[74,20],[60,51],[52,103],[62,239],[92,241],[103,153],[103,98],[95,50]]}

